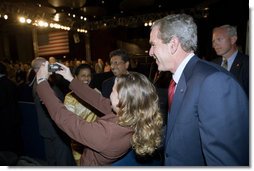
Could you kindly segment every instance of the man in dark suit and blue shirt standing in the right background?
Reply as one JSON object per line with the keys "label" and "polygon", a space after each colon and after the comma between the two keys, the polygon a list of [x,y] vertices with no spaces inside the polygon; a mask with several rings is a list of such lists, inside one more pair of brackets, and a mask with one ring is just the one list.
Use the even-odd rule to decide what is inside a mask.
{"label": "man in dark suit and blue shirt standing in the right background", "polygon": [[213,29],[213,48],[217,55],[213,62],[223,65],[223,59],[227,66],[226,70],[231,72],[249,97],[249,56],[241,53],[237,48],[236,27],[223,25]]}

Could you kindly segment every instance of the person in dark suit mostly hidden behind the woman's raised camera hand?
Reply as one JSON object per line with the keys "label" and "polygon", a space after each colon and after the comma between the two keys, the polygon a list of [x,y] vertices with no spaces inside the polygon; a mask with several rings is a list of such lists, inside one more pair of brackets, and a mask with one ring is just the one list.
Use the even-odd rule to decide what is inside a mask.
{"label": "person in dark suit mostly hidden behind the woman's raised camera hand", "polygon": [[[46,59],[42,57],[37,57],[32,61],[31,65],[36,73],[45,61]],[[54,94],[63,102],[64,95],[61,90],[55,84],[51,85]],[[71,151],[70,138],[50,118],[47,108],[36,93],[36,88],[37,83],[35,81],[33,84],[33,96],[37,111],[39,132],[44,141],[47,164],[49,166],[76,165]]]}

